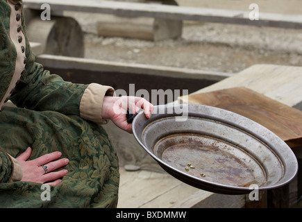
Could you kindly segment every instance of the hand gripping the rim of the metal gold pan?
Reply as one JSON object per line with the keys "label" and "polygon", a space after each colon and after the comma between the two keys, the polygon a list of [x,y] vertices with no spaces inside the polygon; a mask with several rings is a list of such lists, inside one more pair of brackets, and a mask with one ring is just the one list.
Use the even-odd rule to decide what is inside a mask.
{"label": "hand gripping the rim of the metal gold pan", "polygon": [[102,118],[110,119],[116,126],[128,133],[132,133],[132,124],[126,120],[127,110],[133,114],[140,109],[144,109],[146,118],[151,117],[153,105],[144,98],[136,96],[105,96],[103,100]]}

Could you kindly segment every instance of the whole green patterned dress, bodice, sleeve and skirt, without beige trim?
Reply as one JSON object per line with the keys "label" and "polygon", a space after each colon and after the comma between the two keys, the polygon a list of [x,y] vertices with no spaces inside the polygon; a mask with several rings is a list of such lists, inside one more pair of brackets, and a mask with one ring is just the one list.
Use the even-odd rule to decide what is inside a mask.
{"label": "whole green patterned dress, bodice, sleeve and skirt, without beige trim", "polygon": [[[10,7],[0,0],[0,97],[15,70],[16,51],[9,36]],[[26,36],[24,17],[22,31]],[[103,128],[79,117],[87,85],[68,83],[35,62],[26,38],[26,67],[10,100],[18,108],[0,112],[0,207],[116,207],[117,152]],[[30,160],[53,151],[69,159],[68,173],[43,200],[42,184],[8,182],[12,164],[30,146]],[[6,153],[4,153],[4,152]]]}

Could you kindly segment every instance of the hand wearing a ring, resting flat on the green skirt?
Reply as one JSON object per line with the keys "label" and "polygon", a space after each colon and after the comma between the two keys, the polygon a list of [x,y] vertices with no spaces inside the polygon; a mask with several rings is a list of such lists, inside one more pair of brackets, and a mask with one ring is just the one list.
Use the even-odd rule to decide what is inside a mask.
{"label": "hand wearing a ring, resting flat on the green skirt", "polygon": [[[23,171],[21,181],[47,183],[53,186],[58,185],[61,181],[60,178],[68,172],[66,169],[52,172],[68,164],[69,160],[66,158],[58,160],[61,155],[62,153],[60,152],[53,152],[42,155],[35,160],[28,160],[31,156],[31,148],[28,147],[24,153],[16,157]],[[42,166],[46,166],[47,171]]]}

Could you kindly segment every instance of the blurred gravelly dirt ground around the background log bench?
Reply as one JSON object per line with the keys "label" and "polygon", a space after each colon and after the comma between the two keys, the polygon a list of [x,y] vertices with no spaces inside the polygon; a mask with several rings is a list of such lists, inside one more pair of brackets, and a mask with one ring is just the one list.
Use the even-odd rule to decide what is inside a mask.
{"label": "blurred gravelly dirt ground around the background log bench", "polygon": [[[300,0],[178,0],[181,6],[302,14]],[[102,15],[75,14],[85,32],[85,58],[236,73],[255,64],[302,67],[301,29],[184,22],[178,40],[153,42],[97,35]]]}

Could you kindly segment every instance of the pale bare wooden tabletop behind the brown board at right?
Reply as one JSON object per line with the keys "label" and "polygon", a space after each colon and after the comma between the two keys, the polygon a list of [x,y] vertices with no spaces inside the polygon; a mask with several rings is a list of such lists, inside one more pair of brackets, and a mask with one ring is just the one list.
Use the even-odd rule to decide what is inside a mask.
{"label": "pale bare wooden tabletop behind the brown board at right", "polygon": [[[293,107],[302,101],[302,67],[253,65],[193,94],[231,87],[247,87],[285,105]],[[187,98],[180,98],[190,103]]]}

